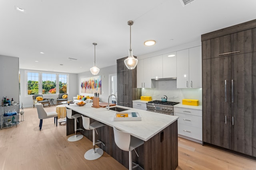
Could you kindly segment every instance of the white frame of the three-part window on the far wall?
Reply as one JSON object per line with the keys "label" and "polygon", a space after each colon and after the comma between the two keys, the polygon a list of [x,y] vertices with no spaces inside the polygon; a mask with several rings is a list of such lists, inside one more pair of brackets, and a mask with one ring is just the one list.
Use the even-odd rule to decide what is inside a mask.
{"label": "white frame of the three-part window on the far wall", "polygon": [[59,75],[67,76],[67,94],[69,93],[69,74],[68,73],[60,73],[60,72],[47,72],[47,71],[38,71],[38,70],[25,70],[25,96],[33,96],[34,94],[28,94],[28,72],[38,73],[38,94],[43,94],[43,86],[42,86],[42,74],[56,74],[56,94],[43,94],[44,96],[58,96],[60,93],[59,90]]}

